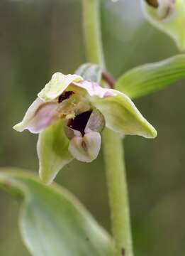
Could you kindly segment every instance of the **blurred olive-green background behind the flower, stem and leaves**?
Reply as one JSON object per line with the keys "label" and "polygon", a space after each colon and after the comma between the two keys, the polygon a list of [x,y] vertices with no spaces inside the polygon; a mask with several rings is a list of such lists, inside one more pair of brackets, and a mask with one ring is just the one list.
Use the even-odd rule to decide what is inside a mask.
{"label": "blurred olive-green background behind the flower, stem and leaves", "polygon": [[[108,70],[125,70],[178,53],[174,42],[142,16],[140,1],[102,1],[103,46]],[[80,0],[0,1],[1,166],[38,171],[37,137],[12,126],[22,119],[52,73],[73,73],[85,62]],[[136,256],[185,255],[184,81],[135,101],[156,127],[155,140],[125,138]],[[77,161],[60,171],[69,188],[111,230],[103,158]],[[0,255],[27,256],[18,232],[18,206],[0,191]],[[75,256],[75,255],[74,255]]]}

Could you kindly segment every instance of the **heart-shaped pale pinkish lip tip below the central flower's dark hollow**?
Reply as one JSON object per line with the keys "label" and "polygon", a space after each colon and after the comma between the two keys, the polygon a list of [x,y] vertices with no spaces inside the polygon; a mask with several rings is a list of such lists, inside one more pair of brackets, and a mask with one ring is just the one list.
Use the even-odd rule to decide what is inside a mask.
{"label": "heart-shaped pale pinkish lip tip below the central flower's dark hollow", "polygon": [[88,132],[84,137],[74,137],[69,143],[69,151],[79,161],[90,163],[99,155],[101,135],[99,132]]}

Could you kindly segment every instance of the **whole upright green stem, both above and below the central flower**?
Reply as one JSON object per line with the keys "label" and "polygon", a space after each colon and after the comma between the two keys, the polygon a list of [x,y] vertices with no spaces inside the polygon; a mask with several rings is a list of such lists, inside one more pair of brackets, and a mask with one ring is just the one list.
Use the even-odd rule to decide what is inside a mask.
{"label": "whole upright green stem, both above and below the central flower", "polygon": [[[101,41],[100,2],[99,0],[82,0],[82,2],[88,61],[105,68]],[[110,129],[105,129],[103,132],[103,154],[116,255],[133,256],[123,144],[120,136]]]}

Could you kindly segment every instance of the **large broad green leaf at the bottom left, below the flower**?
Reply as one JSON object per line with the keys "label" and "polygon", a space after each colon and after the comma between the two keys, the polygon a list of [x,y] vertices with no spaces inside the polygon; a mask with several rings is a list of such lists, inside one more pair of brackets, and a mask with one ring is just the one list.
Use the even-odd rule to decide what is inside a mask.
{"label": "large broad green leaf at the bottom left, below the flower", "polygon": [[27,171],[1,169],[0,185],[23,201],[20,229],[33,256],[113,256],[113,243],[65,189],[43,186]]}

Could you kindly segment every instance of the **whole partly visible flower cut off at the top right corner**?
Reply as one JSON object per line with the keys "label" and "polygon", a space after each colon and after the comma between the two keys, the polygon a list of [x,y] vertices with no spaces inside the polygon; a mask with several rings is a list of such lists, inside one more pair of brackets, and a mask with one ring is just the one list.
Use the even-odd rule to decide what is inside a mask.
{"label": "whole partly visible flower cut off at the top right corner", "polygon": [[167,33],[180,50],[185,49],[185,1],[141,0],[142,10],[152,25]]}

